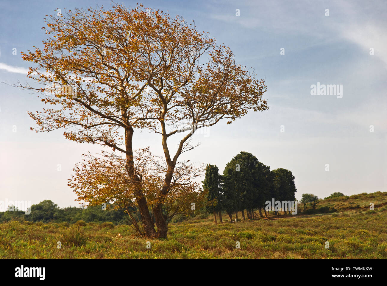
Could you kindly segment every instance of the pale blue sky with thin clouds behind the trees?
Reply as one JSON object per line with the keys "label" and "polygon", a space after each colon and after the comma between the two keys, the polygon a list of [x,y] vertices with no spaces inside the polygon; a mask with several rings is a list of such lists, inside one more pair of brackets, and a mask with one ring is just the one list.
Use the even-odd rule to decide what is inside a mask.
{"label": "pale blue sky with thin clouds behind the trees", "polygon": [[[136,2],[123,3],[135,7]],[[46,14],[110,3],[2,0],[0,82],[27,81],[30,63],[20,52],[41,47]],[[293,172],[297,199],[303,193],[324,198],[334,192],[386,191],[387,2],[142,3],[194,20],[199,31],[230,47],[236,62],[253,67],[267,85],[263,97],[269,110],[195,134],[193,143],[201,145],[182,159],[216,164],[223,172],[240,151],[250,152],[271,169]],[[312,86],[318,84],[338,85],[341,92],[315,94]],[[61,130],[31,131],[35,122],[27,111],[42,108],[36,94],[0,83],[0,200],[79,206],[68,179],[82,154],[97,153],[101,146],[68,141]],[[158,134],[135,133],[135,148],[151,146],[161,154],[160,143]]]}

